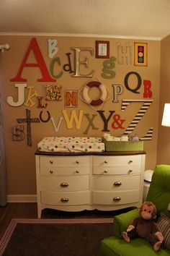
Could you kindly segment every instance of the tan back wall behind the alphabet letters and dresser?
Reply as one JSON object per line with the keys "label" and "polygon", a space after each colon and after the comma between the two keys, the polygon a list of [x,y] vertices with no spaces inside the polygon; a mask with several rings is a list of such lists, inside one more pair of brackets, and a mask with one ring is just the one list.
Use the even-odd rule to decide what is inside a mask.
{"label": "tan back wall behind the alphabet letters and dresser", "polygon": [[[130,100],[153,100],[150,108],[139,121],[138,126],[135,128],[135,133],[139,137],[143,137],[148,132],[148,129],[153,127],[153,138],[152,140],[144,142],[144,150],[146,150],[146,169],[154,168],[156,165],[156,147],[158,138],[158,101],[159,101],[159,71],[160,71],[160,41],[154,40],[142,40],[143,43],[148,43],[148,66],[147,67],[137,67],[134,66],[134,42],[136,40],[128,39],[116,39],[116,38],[81,38],[81,37],[53,37],[53,36],[36,36],[36,40],[40,51],[42,53],[45,64],[50,72],[50,63],[52,59],[48,57],[48,39],[58,40],[58,54],[56,56],[61,59],[61,66],[55,66],[55,72],[63,71],[61,78],[57,82],[37,82],[37,79],[42,77],[40,69],[37,67],[24,67],[22,72],[22,77],[27,79],[27,86],[33,86],[33,91],[36,91],[38,95],[42,95],[45,98],[45,85],[61,85],[62,86],[62,101],[60,102],[48,102],[47,108],[37,108],[37,98],[32,98],[35,106],[10,106],[6,99],[12,96],[15,101],[17,101],[17,88],[14,85],[23,82],[11,82],[10,79],[17,75],[19,67],[22,64],[24,55],[26,54],[27,48],[30,45],[33,36],[13,36],[13,35],[0,35],[0,43],[9,43],[11,48],[9,51],[5,51],[4,54],[0,56],[0,82],[1,82],[1,102],[3,108],[3,118],[4,118],[4,137],[5,137],[5,147],[6,147],[6,168],[7,168],[7,189],[9,195],[33,195],[36,194],[36,180],[35,180],[35,150],[37,150],[37,142],[42,140],[45,136],[86,136],[84,132],[89,125],[89,121],[86,116],[83,116],[81,121],[81,128],[76,129],[75,124],[73,124],[72,129],[68,129],[66,120],[63,119],[61,122],[61,127],[59,127],[58,132],[55,132],[53,124],[51,121],[44,123],[40,121],[38,124],[31,124],[32,129],[32,147],[27,145],[27,126],[24,124],[24,140],[22,141],[12,141],[12,127],[17,125],[17,119],[25,118],[26,108],[31,111],[32,118],[39,118],[40,111],[44,111],[44,119],[46,117],[45,111],[50,112],[50,116],[55,119],[55,124],[58,125],[59,118],[63,116],[63,109],[67,111],[68,116],[71,116],[71,112],[76,110],[84,111],[84,114],[89,114],[90,118],[92,114],[96,114],[93,124],[97,129],[89,128],[88,136],[102,137],[104,128],[104,121],[97,112],[97,109],[91,108],[88,104],[84,103],[80,97],[78,97],[78,107],[77,108],[65,108],[64,107],[64,90],[78,90],[80,92],[81,88],[84,87],[89,77],[71,77],[71,74],[63,71],[62,67],[64,64],[68,63],[66,53],[71,53],[71,65],[73,68],[73,63],[75,56],[73,56],[73,47],[89,47],[94,49],[94,56],[91,56],[89,52],[81,53],[81,61],[84,58],[89,59],[89,67],[86,68],[81,65],[81,74],[88,74],[91,70],[94,70],[93,80],[99,80],[102,82],[109,93],[109,99],[100,106],[100,110],[104,111],[104,116],[106,118],[109,116],[109,111],[115,111],[115,114],[120,115],[120,119],[123,122],[122,127],[125,129],[128,127],[131,121],[133,121],[135,115],[138,113],[142,103],[130,103],[125,111],[121,111],[121,103],[123,99]],[[115,67],[111,69],[115,72],[115,77],[112,79],[104,79],[102,77],[103,61],[107,59],[96,59],[95,58],[95,40],[107,40],[109,41],[109,56],[115,56]],[[124,64],[119,64],[117,58],[117,43],[128,44],[131,51],[131,63],[126,64],[124,59]],[[55,56],[55,57],[56,57]],[[55,58],[54,57],[54,58]],[[35,55],[31,52],[28,63],[36,63]],[[142,79],[142,84],[139,93],[132,93],[130,90],[125,88],[124,79],[128,72],[138,72]],[[151,98],[143,98],[143,80],[151,81],[151,91],[153,93]],[[135,88],[137,85],[137,79],[134,75],[130,76],[130,87]],[[113,88],[112,85],[120,84],[124,88],[122,95],[118,96],[118,103],[113,103]],[[91,98],[99,98],[99,90],[90,91]],[[25,89],[25,101],[27,100],[28,89]],[[24,102],[25,102],[24,101]],[[114,114],[113,114],[114,115]],[[108,129],[111,135],[121,136],[125,129],[113,129],[112,123],[114,122],[113,117],[108,122]]]}

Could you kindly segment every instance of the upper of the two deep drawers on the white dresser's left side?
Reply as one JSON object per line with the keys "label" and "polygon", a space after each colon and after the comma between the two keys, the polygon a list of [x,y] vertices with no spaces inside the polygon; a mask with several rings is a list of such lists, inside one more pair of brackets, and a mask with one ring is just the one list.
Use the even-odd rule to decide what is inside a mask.
{"label": "upper of the two deep drawers on the white dresser's left side", "polygon": [[89,189],[89,176],[40,177],[40,189],[50,191],[79,191]]}

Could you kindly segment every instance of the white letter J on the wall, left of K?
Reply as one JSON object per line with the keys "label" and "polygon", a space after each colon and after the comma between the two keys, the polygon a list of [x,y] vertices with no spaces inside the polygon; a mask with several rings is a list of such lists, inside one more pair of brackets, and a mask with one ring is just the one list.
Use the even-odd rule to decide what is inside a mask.
{"label": "white letter J on the wall, left of K", "polygon": [[21,106],[24,103],[24,88],[27,88],[27,84],[15,84],[14,87],[18,88],[18,101],[14,102],[12,96],[9,96],[7,103],[10,106]]}

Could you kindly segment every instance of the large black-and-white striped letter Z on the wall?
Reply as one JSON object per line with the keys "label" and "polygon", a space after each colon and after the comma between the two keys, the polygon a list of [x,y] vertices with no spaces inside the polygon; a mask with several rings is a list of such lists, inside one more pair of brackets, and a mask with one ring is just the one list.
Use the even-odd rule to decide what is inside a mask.
{"label": "large black-and-white striped letter Z on the wall", "polygon": [[[133,132],[136,125],[138,124],[140,119],[143,118],[143,115],[146,114],[146,111],[148,111],[148,108],[151,106],[153,101],[152,100],[148,100],[148,101],[147,100],[122,100],[122,106],[121,106],[122,111],[125,111],[125,109],[127,108],[127,106],[130,103],[139,103],[139,102],[143,103],[143,106],[141,106],[140,110],[135,115],[133,121],[131,121],[128,128],[125,129],[125,132],[123,133],[123,135],[129,135],[131,132]],[[152,130],[152,132],[153,132],[153,130]],[[151,133],[150,133],[150,135],[151,135]],[[151,140],[151,136],[147,137],[146,140]]]}

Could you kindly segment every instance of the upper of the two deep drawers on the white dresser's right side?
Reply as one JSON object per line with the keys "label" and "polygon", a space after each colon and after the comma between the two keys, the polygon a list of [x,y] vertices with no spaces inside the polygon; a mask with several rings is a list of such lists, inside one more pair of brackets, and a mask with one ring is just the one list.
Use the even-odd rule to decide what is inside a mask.
{"label": "upper of the two deep drawers on the white dresser's right side", "polygon": [[94,176],[93,190],[132,190],[139,189],[140,175],[138,176]]}

